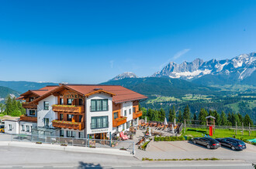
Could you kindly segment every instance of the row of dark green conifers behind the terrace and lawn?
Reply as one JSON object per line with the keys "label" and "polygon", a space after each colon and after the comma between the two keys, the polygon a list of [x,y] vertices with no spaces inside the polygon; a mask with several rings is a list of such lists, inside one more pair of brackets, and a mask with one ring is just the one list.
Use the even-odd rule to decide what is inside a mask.
{"label": "row of dark green conifers behind the terrace and lawn", "polygon": [[[163,108],[160,110],[153,110],[153,109],[146,109],[144,107],[140,107],[140,110],[143,111],[142,118],[145,119],[147,117],[147,120],[152,121],[164,121],[165,111]],[[182,110],[175,110],[175,106],[172,106],[171,109],[168,112],[168,121],[173,122],[175,119],[177,122],[182,123],[184,120],[186,120],[186,123],[195,123],[200,125],[206,125],[206,117],[212,116],[215,117],[215,124],[219,126],[235,126],[237,123],[237,126],[242,126],[242,123],[244,123],[244,126],[247,127],[250,125],[252,126],[254,123],[251,120],[251,117],[248,114],[245,114],[243,117],[240,113],[224,113],[223,111],[221,113],[218,113],[216,110],[209,110],[202,108],[198,114],[198,116],[195,113],[191,113],[189,109],[189,105],[185,106],[185,109]]]}

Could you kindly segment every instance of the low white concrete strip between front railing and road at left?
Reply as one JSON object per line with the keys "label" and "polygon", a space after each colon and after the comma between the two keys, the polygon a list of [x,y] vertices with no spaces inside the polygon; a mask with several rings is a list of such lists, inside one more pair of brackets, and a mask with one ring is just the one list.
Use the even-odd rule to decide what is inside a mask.
{"label": "low white concrete strip between front railing and road at left", "polygon": [[133,157],[133,154],[131,154],[126,150],[110,149],[110,148],[89,148],[89,147],[76,147],[76,146],[65,147],[65,146],[55,145],[55,144],[36,144],[36,143],[17,142],[17,141],[0,141],[0,146],[25,147],[25,148],[48,149],[48,150],[64,150],[64,151],[71,151],[71,152],[110,154],[110,155]]}

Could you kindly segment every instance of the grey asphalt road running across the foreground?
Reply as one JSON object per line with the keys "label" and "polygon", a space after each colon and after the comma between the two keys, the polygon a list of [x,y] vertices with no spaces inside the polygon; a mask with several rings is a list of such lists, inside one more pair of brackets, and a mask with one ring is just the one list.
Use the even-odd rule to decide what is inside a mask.
{"label": "grey asphalt road running across the foreground", "polygon": [[245,161],[140,161],[136,157],[0,147],[0,168],[253,168]]}

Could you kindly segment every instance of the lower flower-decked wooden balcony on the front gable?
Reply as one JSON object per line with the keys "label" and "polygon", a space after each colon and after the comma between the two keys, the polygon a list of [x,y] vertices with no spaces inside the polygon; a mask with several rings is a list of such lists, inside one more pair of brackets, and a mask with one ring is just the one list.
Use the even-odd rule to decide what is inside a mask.
{"label": "lower flower-decked wooden balcony on the front gable", "polygon": [[85,122],[71,122],[63,120],[53,120],[53,127],[74,129],[74,130],[84,130]]}

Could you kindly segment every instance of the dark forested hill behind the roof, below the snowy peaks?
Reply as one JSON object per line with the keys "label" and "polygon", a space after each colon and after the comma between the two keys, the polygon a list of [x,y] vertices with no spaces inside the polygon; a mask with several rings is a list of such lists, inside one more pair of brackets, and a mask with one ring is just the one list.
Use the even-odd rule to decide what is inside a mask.
{"label": "dark forested hill behind the roof, below the snowy peaks", "polygon": [[215,93],[214,88],[193,84],[183,79],[171,79],[170,77],[126,78],[102,84],[124,86],[146,96],[157,94],[181,97],[185,94]]}

